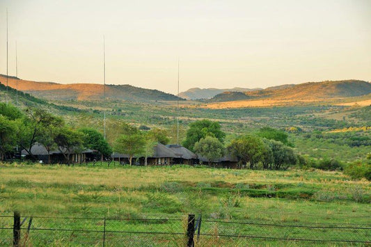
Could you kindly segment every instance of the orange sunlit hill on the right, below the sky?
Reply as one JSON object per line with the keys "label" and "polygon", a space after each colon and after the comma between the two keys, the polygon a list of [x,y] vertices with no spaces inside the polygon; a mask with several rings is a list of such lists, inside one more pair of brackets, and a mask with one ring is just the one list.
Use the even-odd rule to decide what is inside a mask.
{"label": "orange sunlit hill on the right, below the sky", "polygon": [[[357,97],[371,93],[371,83],[358,80],[308,82],[284,85],[253,92],[244,92],[246,99],[285,99],[313,101]],[[228,102],[244,99],[241,93],[219,94],[210,102]]]}

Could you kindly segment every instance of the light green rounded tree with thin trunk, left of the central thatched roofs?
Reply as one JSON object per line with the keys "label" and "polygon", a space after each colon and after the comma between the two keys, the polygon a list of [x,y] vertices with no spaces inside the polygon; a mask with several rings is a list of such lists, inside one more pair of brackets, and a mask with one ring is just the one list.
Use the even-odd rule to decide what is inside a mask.
{"label": "light green rounded tree with thin trunk, left of the central thatched roofs", "polygon": [[134,155],[141,155],[144,152],[145,138],[143,134],[123,134],[115,143],[114,149],[121,154],[129,155],[129,164],[132,166]]}

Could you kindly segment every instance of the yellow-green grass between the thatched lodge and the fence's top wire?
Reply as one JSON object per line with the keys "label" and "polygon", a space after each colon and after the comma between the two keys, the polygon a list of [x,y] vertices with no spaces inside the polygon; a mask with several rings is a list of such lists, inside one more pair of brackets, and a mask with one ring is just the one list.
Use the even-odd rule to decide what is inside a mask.
{"label": "yellow-green grass between the thatched lodge and the fence's top wire", "polygon": [[370,223],[370,182],[323,171],[0,167],[0,214]]}

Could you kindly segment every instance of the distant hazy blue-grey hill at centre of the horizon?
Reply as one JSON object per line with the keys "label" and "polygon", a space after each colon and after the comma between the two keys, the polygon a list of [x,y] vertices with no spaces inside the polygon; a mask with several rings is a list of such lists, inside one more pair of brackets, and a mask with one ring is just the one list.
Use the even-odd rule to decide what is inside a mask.
{"label": "distant hazy blue-grey hill at centre of the horizon", "polygon": [[219,89],[219,88],[190,88],[179,94],[179,97],[184,99],[211,99],[215,95],[224,92],[248,92],[262,90],[262,88],[230,88],[230,89]]}

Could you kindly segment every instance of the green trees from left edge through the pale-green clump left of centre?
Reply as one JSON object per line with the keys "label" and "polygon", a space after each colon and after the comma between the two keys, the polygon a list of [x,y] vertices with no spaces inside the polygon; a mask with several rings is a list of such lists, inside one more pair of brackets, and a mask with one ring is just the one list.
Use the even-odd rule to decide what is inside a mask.
{"label": "green trees from left edge through the pale-green clump left of centre", "polygon": [[70,162],[70,154],[86,149],[96,150],[104,157],[111,157],[113,149],[130,155],[150,155],[156,143],[167,144],[170,140],[166,131],[151,129],[141,132],[138,128],[120,122],[117,139],[110,145],[96,129],[84,127],[74,129],[65,121],[44,109],[20,111],[12,104],[0,103],[0,152],[3,159],[13,158],[15,148],[24,150],[31,159],[36,160],[33,147],[40,143],[49,155],[59,150],[65,161]]}

